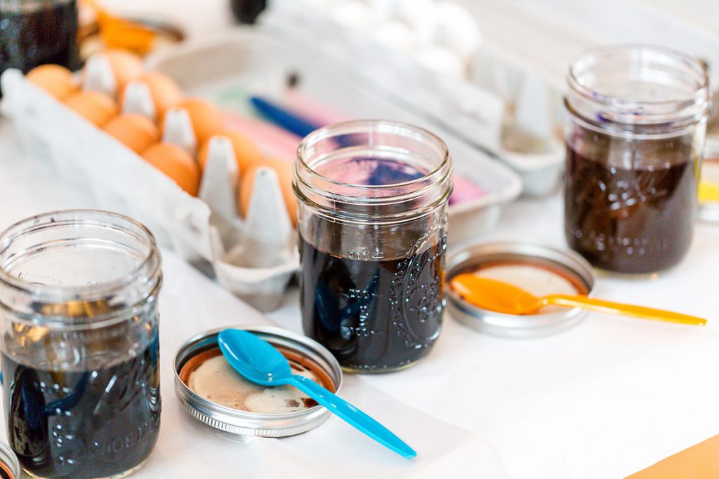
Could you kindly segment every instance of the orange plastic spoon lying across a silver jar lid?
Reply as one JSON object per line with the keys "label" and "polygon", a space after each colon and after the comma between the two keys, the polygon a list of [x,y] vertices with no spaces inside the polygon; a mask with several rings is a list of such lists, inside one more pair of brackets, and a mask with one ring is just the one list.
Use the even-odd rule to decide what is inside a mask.
{"label": "orange plastic spoon lying across a silver jar lid", "polygon": [[682,315],[678,312],[655,310],[651,307],[622,304],[603,299],[593,299],[586,294],[550,294],[536,297],[524,289],[495,279],[480,278],[475,274],[457,274],[452,278],[450,287],[464,300],[485,310],[503,312],[508,315],[532,315],[541,308],[549,306],[580,307],[608,313],[641,317],[649,320],[678,322],[684,325],[703,326],[707,320],[701,317]]}

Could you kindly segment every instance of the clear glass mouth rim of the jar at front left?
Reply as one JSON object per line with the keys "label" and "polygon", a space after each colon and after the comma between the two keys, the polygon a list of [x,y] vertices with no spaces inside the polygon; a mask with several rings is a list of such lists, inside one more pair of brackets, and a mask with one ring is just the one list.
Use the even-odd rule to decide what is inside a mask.
{"label": "clear glass mouth rim of the jar at front left", "polygon": [[[45,223],[45,226],[43,226],[43,228],[46,228],[48,224],[57,226],[63,225],[63,222],[53,220],[53,218],[57,218],[58,216],[67,216],[68,218],[66,219],[66,221],[72,221],[74,223],[83,223],[86,225],[96,226],[105,225],[98,220],[90,220],[89,218],[83,219],[83,216],[86,215],[101,215],[109,219],[111,218],[114,220],[122,221],[128,226],[137,228],[137,231],[139,231],[142,236],[139,236],[137,234],[133,236],[139,239],[139,241],[143,241],[145,243],[145,245],[147,246],[147,255],[142,257],[139,263],[133,267],[132,271],[129,271],[129,273],[123,276],[120,276],[116,279],[111,279],[107,282],[102,282],[100,284],[83,284],[80,286],[57,286],[50,284],[29,283],[12,276],[12,274],[9,274],[6,271],[4,264],[0,264],[0,284],[12,287],[13,289],[16,289],[25,294],[32,294],[38,297],[67,298],[81,297],[89,294],[97,295],[104,292],[111,292],[117,289],[122,289],[123,287],[126,287],[127,285],[132,284],[134,281],[136,281],[138,277],[142,274],[142,271],[144,271],[145,269],[147,269],[148,266],[150,266],[150,263],[158,254],[155,236],[152,235],[152,232],[139,221],[134,220],[129,216],[106,210],[92,210],[83,208],[76,208],[70,210],[55,210],[47,213],[40,213],[39,215],[34,215],[29,218],[19,220],[16,223],[10,225],[4,231],[0,232],[0,255],[6,250],[6,248],[8,248],[12,244],[12,241],[14,241],[15,238],[18,238],[22,233],[27,232],[28,227],[32,227],[34,225],[41,225],[42,223],[40,222],[42,220],[49,220],[48,223]],[[122,231],[122,228],[118,228],[116,226],[111,226],[111,228],[114,228],[115,230],[120,229],[120,231]],[[129,233],[129,231],[125,232]],[[160,264],[158,261],[150,272],[154,274],[159,268]]]}

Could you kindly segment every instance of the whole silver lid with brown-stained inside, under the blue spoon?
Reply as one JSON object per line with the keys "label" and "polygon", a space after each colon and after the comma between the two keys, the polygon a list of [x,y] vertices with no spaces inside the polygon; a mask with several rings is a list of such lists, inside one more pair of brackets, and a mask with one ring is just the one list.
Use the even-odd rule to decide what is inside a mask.
{"label": "whole silver lid with brown-stained inside, under the blue spoon", "polygon": [[[224,328],[223,328],[224,329]],[[329,391],[342,386],[342,369],[319,343],[278,327],[239,327],[254,332],[288,359],[290,368]],[[175,354],[175,393],[191,416],[232,434],[284,437],[318,427],[331,416],[293,386],[251,383],[227,363],[217,345],[221,330],[189,339]]]}

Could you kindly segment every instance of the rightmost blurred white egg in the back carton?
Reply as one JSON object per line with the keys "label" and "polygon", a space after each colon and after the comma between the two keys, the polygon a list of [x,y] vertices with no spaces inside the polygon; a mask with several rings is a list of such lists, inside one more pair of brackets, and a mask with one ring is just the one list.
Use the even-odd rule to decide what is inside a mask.
{"label": "rightmost blurred white egg in the back carton", "polygon": [[454,1],[439,1],[434,11],[437,27],[434,42],[447,47],[464,60],[482,46],[482,31],[472,12]]}

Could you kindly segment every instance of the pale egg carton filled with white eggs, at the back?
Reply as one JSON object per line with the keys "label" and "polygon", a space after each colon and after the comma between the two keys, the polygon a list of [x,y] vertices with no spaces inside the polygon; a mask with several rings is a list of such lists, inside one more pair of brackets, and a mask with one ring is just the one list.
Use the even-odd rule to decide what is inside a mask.
{"label": "pale egg carton filled with white eggs, at the back", "polygon": [[[361,64],[359,75],[368,82],[508,164],[520,175],[524,194],[556,189],[564,171],[561,90],[498,54],[462,2],[278,0],[274,5],[263,23],[315,38],[337,62],[351,58]],[[397,32],[381,29],[388,22],[411,27],[411,49]],[[427,45],[456,59],[425,56]]]}

